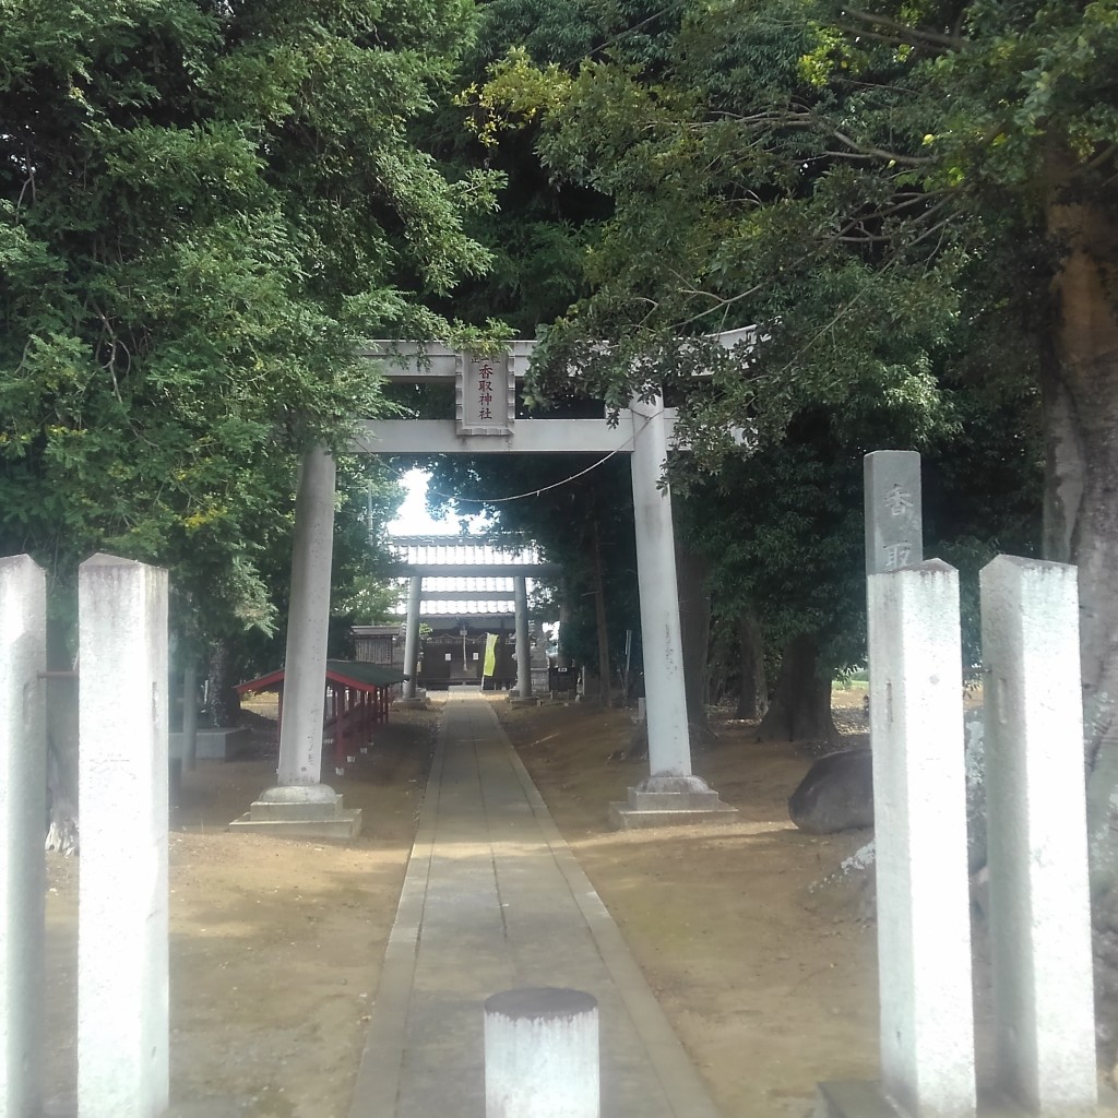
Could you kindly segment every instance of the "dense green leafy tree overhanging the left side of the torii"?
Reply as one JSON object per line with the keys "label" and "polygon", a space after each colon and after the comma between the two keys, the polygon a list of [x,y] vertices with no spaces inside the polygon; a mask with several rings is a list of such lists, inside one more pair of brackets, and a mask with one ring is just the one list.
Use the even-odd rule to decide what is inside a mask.
{"label": "dense green leafy tree overhanging the left side of the torii", "polygon": [[96,550],[167,566],[184,638],[274,628],[299,453],[380,407],[359,344],[446,333],[426,305],[489,260],[493,177],[411,132],[472,20],[0,0],[4,551],[63,591]]}

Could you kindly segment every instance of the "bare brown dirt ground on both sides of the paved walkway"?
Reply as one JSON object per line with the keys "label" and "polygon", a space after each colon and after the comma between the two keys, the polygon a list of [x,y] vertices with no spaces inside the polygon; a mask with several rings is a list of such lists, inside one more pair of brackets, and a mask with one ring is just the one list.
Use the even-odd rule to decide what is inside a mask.
{"label": "bare brown dirt ground on both sides of the paved walkway", "polygon": [[[860,692],[836,692],[849,707]],[[811,764],[721,720],[695,770],[729,826],[617,833],[607,805],[645,775],[617,761],[624,711],[493,704],[726,1118],[802,1118],[816,1081],[877,1070],[874,934],[861,890],[823,887],[865,842],[798,832],[786,800]],[[258,714],[271,713],[260,708]],[[853,716],[849,721],[853,721]],[[258,726],[266,723],[256,720]],[[350,846],[230,834],[271,784],[253,756],[199,761],[172,812],[172,1098],[217,1118],[344,1118],[415,833],[433,712],[394,711],[329,781],[364,813]],[[49,1093],[73,1092],[79,859],[49,860]]]}

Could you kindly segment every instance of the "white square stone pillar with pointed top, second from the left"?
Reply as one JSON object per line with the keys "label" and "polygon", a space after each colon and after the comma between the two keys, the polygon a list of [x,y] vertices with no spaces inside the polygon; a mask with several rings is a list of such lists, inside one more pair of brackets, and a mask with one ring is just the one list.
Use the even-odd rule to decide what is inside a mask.
{"label": "white square stone pillar with pointed top, second from the left", "polygon": [[167,571],[78,571],[79,1118],[168,1105]]}

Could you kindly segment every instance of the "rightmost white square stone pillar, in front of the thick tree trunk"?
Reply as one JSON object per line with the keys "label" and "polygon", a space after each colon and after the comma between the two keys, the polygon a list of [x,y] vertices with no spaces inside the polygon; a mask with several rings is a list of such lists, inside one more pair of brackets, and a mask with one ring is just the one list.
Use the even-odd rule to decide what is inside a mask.
{"label": "rightmost white square stone pillar, in front of the thick tree trunk", "polygon": [[1093,1114],[1076,568],[998,556],[982,620],[996,1082],[1030,1114]]}

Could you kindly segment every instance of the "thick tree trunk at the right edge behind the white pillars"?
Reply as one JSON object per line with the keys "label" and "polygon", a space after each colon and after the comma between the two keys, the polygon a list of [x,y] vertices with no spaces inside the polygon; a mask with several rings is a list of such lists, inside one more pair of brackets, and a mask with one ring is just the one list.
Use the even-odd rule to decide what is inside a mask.
{"label": "thick tree trunk at the right edge behind the white pillars", "polygon": [[1118,883],[1118,222],[1083,200],[1074,160],[1050,153],[1053,345],[1042,362],[1045,556],[1079,567],[1080,654],[1092,891]]}

